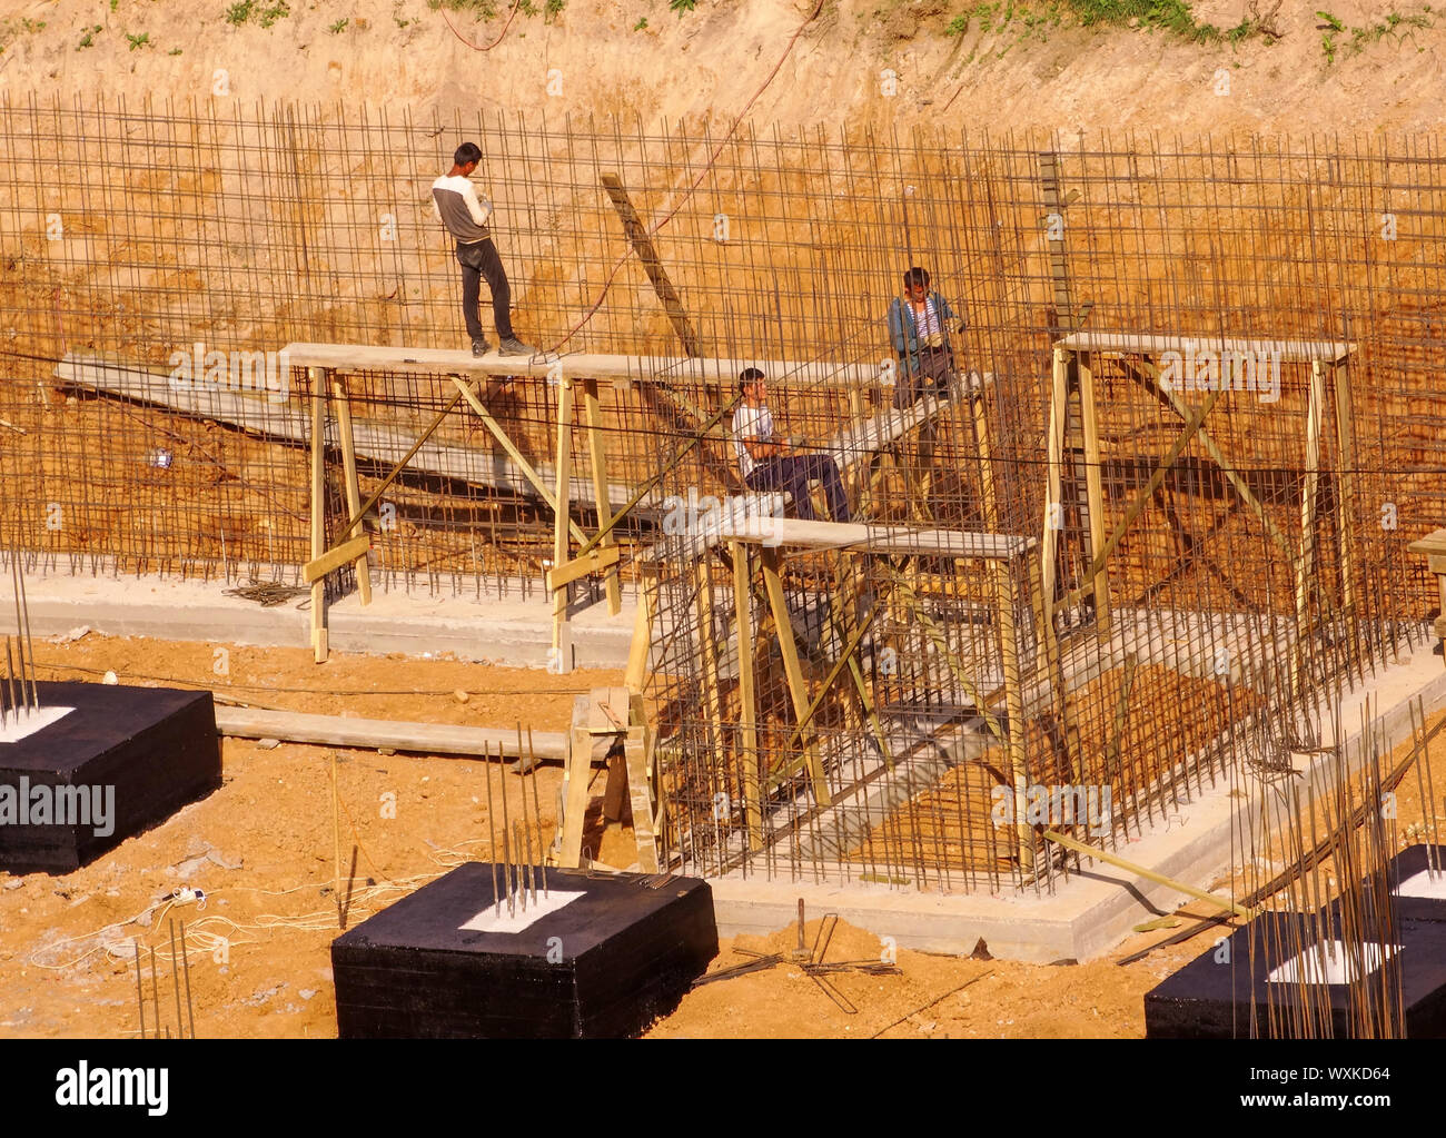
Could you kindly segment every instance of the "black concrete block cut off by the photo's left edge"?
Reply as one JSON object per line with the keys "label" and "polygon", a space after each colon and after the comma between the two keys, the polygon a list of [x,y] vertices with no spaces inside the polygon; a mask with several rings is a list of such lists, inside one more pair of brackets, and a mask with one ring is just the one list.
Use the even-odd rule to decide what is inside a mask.
{"label": "black concrete block cut off by the photo's left edge", "polygon": [[0,743],[0,869],[68,873],[221,785],[210,691],[38,687],[75,710]]}

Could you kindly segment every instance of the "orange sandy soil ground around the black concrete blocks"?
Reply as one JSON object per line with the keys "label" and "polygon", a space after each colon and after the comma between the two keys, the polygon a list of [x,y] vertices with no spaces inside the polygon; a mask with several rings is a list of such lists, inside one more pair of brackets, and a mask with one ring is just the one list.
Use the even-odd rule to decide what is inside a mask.
{"label": "orange sandy soil ground around the black concrete blocks", "polygon": [[[213,678],[213,649],[204,645],[90,635],[36,649],[42,680],[94,680],[106,669],[114,669],[121,683]],[[233,648],[230,662],[228,685],[217,684],[228,698],[250,694],[268,706],[369,717],[477,724],[521,720],[538,730],[567,724],[574,690],[617,680],[610,672],[554,677],[451,661],[403,664],[341,655],[317,667],[307,652],[283,649]],[[470,693],[466,703],[458,690]],[[1436,750],[1446,753],[1443,739]],[[156,950],[161,1024],[175,1032],[172,921],[176,928],[179,921],[187,924],[198,1035],[335,1035],[328,954],[340,925],[330,810],[333,753],[338,756],[344,860],[356,849],[348,927],[486,852],[482,763],[288,743],[263,749],[228,739],[224,785],[204,801],[75,873],[0,875],[0,1035],[133,1037],[137,944],[147,1001],[149,953]],[[510,779],[513,787],[518,782],[496,766],[492,777]],[[560,784],[560,768],[539,771],[548,836]],[[602,792],[600,771],[593,791]],[[395,795],[395,811],[388,810],[389,795]],[[599,805],[596,798],[590,842],[597,843],[603,860],[622,865],[630,834],[617,824],[603,831]],[[1400,817],[1403,826],[1420,817],[1410,778],[1401,787]],[[204,910],[194,901],[174,899],[185,888],[204,891]],[[1176,917],[1205,912],[1205,907],[1192,905]],[[823,915],[808,914],[810,946]],[[1165,931],[1135,936],[1108,957],[1082,964],[1032,966],[983,959],[983,953],[967,959],[899,950],[898,975],[837,975],[830,977],[833,993],[785,963],[698,988],[649,1034],[1138,1037],[1144,1032],[1142,995],[1207,949],[1215,934],[1126,967],[1113,963],[1163,936]],[[771,937],[726,938],[714,969],[746,963],[746,951],[787,956],[795,944],[797,927]],[[826,960],[875,962],[884,954],[876,936],[840,925]]]}

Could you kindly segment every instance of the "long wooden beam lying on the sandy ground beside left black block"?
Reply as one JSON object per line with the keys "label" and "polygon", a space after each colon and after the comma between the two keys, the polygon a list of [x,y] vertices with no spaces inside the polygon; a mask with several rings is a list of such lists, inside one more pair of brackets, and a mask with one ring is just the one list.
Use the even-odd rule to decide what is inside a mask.
{"label": "long wooden beam lying on the sandy ground beside left black block", "polygon": [[[281,739],[288,743],[348,746],[366,750],[392,748],[419,755],[487,758],[497,753],[523,758],[516,727],[466,727],[451,723],[408,723],[389,719],[347,719],[302,711],[269,711],[256,707],[215,707],[215,729],[234,739]],[[535,732],[532,753],[561,761],[567,743],[561,732]]]}

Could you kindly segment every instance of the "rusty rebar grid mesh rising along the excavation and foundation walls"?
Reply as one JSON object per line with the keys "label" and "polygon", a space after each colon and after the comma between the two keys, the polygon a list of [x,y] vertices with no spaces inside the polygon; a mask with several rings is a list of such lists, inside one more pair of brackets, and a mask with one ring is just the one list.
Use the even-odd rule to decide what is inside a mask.
{"label": "rusty rebar grid mesh rising along the excavation and foundation walls", "polygon": [[[599,382],[600,435],[615,508],[638,497],[615,534],[623,576],[655,590],[664,839],[685,869],[1047,886],[1069,863],[1038,837],[1048,821],[999,824],[1001,787],[1011,803],[1034,785],[1108,787],[1113,813],[1092,823],[1106,842],[1170,824],[1220,771],[1272,753],[1264,724],[1361,675],[1437,604],[1424,558],[1406,551],[1446,513],[1433,140],[714,137],[541,116],[35,101],[0,104],[0,463],[20,503],[0,539],[72,570],[227,578],[295,576],[309,557],[309,379],[288,370],[285,398],[250,392],[240,416],[246,392],[201,385],[182,408],[156,390],[174,392],[175,353],[204,364],[292,341],[464,346],[428,187],[458,142],[483,145],[477,182],[497,207],[516,324],[561,353],[561,372],[497,376],[479,398],[544,480],[560,379],[587,379],[586,354],[632,357],[625,379]],[[901,361],[885,314],[911,265],[967,328],[950,330],[953,388],[891,419]],[[1265,359],[1218,399],[1184,372],[1171,399],[1158,351],[1071,356],[1051,457],[1051,350],[1074,331],[1205,353],[1225,340],[1348,347],[1325,363]],[[669,363],[681,356],[727,363],[704,380]],[[763,549],[749,547],[745,746],[735,567],[726,541],[700,548],[698,535],[710,499],[798,512],[762,510],[739,482],[735,377],[755,363],[781,431],[833,454],[868,539],[778,547],[801,681],[787,675]],[[366,496],[455,388],[386,370],[337,379]],[[1206,403],[1206,434],[1181,440]],[[587,536],[578,422],[565,445]],[[431,467],[412,464],[372,522],[380,580],[531,596],[554,521],[535,487],[463,405],[432,444]],[[328,499],[335,531],[338,484]],[[1096,594],[1095,542],[1116,528]],[[918,531],[1030,545],[940,557],[908,547]],[[596,578],[577,590],[596,594]],[[804,710],[817,704],[804,730],[800,685]]]}

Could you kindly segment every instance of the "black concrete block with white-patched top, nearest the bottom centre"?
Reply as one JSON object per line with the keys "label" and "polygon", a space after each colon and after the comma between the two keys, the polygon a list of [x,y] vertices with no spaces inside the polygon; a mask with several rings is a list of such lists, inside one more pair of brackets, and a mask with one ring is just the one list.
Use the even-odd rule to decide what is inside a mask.
{"label": "black concrete block with white-patched top, nearest the bottom centre", "polygon": [[337,937],[337,1034],[638,1035],[677,1008],[717,956],[713,892],[703,881],[649,888],[656,878],[558,869],[547,878],[549,894],[580,895],[522,931],[461,927],[493,911],[492,866],[473,862]]}

